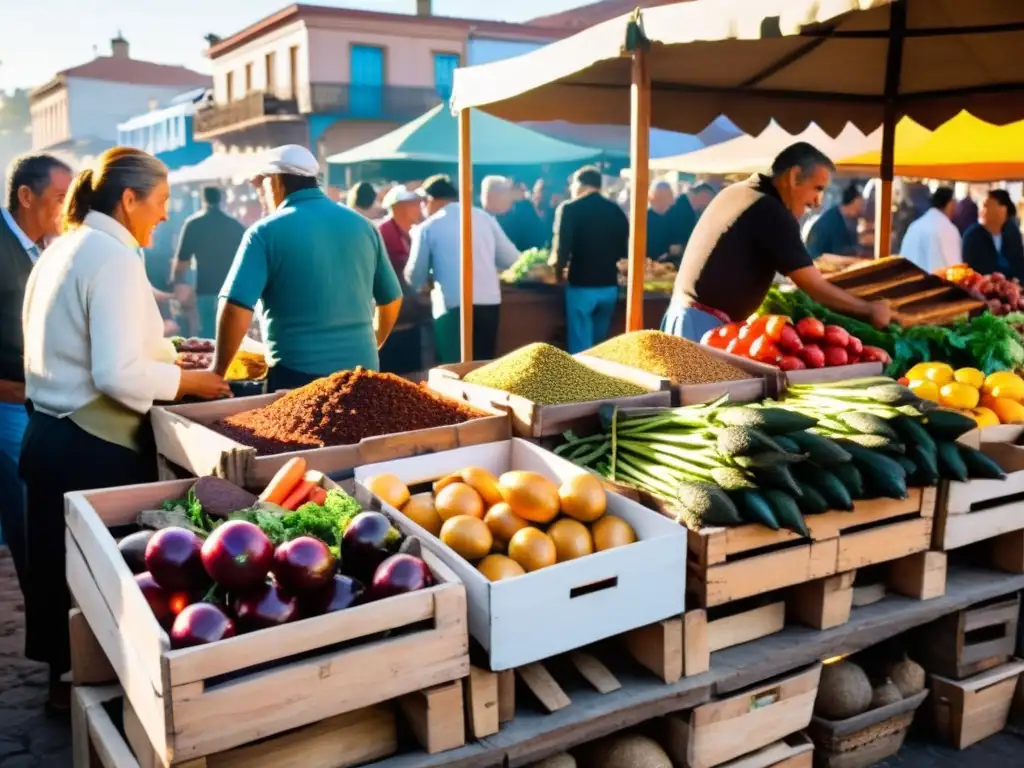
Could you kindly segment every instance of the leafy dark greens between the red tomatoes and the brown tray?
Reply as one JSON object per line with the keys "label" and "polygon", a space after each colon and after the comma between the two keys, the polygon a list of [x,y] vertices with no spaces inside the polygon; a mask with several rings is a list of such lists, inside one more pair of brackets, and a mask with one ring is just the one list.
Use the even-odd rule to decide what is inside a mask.
{"label": "leafy dark greens between the red tomatoes and the brown tray", "polygon": [[892,357],[889,376],[901,376],[918,362],[941,360],[955,368],[977,368],[983,374],[1017,371],[1024,366],[1024,344],[1017,326],[1024,327],[1024,313],[996,316],[990,312],[959,319],[948,326],[890,326],[878,331],[867,323],[823,307],[802,291],[773,287],[760,313],[784,314],[794,321],[816,317],[839,326],[865,345],[885,349]]}

